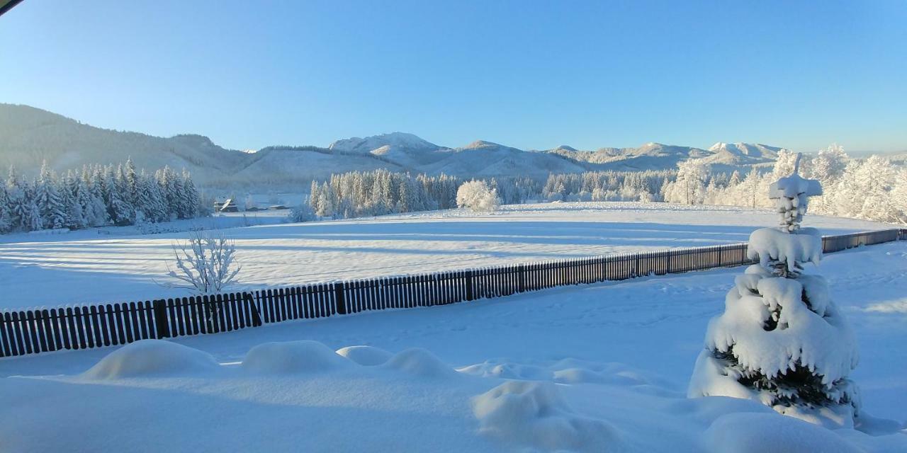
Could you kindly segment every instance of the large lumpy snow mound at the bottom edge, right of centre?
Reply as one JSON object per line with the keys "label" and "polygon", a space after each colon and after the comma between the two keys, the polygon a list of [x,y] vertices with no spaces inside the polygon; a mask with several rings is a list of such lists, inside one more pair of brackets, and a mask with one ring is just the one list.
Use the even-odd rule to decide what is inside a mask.
{"label": "large lumpy snow mound at the bottom edge, right of centre", "polygon": [[608,422],[573,413],[549,382],[508,381],[472,402],[480,432],[525,448],[608,451],[622,443]]}

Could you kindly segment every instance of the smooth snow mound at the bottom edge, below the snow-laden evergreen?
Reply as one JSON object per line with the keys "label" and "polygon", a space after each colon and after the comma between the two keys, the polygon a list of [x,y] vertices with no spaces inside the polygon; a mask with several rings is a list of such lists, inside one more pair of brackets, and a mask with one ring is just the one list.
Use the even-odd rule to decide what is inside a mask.
{"label": "smooth snow mound at the bottom edge, below the snow-laden evergreen", "polygon": [[706,430],[710,451],[736,453],[856,453],[861,451],[834,432],[775,414],[728,414]]}

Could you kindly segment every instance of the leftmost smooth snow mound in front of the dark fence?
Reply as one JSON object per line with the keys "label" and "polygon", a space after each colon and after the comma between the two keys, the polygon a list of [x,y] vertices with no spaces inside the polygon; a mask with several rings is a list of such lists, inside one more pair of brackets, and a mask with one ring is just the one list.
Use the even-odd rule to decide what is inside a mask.
{"label": "leftmost smooth snow mound in front of the dark fence", "polygon": [[208,352],[163,340],[141,340],[107,354],[82,376],[91,380],[210,374],[220,364]]}

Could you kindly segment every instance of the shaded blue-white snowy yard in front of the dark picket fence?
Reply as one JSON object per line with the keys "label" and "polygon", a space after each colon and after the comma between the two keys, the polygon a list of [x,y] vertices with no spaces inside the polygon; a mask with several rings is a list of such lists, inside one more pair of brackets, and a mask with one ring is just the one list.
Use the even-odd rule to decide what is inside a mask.
{"label": "shaded blue-white snowy yard in front of the dark picket fence", "polygon": [[[687,222],[697,217],[678,215]],[[669,227],[657,223],[658,231]],[[725,234],[736,241],[749,226],[725,228],[706,229],[703,240]],[[708,319],[722,312],[727,290],[743,272],[732,268],[280,323],[180,338],[164,345],[170,348],[136,343],[0,360],[0,445],[9,451],[907,451],[907,243],[827,255],[809,270],[828,278],[857,335],[861,362],[851,377],[863,390],[862,430],[827,430],[749,400],[685,398]],[[327,348],[311,342],[256,347],[306,340]],[[356,345],[385,352],[342,350]]]}

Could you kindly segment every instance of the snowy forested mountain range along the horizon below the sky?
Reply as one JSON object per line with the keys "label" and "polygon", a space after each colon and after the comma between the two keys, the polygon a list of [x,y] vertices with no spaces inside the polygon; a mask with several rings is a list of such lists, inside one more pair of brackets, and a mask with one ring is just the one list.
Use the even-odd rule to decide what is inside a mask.
{"label": "snowy forested mountain range along the horizon below the sky", "polygon": [[524,150],[477,140],[448,148],[413,134],[393,132],[336,140],[327,148],[272,146],[224,149],[200,135],[154,137],[106,130],[25,105],[0,104],[0,166],[34,173],[46,159],[54,169],[121,162],[137,167],[186,168],[212,188],[286,187],[351,170],[389,169],[464,178],[531,176],[589,170],[673,169],[685,159],[706,159],[714,169],[766,166],[781,148],[718,142],[709,149],[646,143],[639,148]]}

